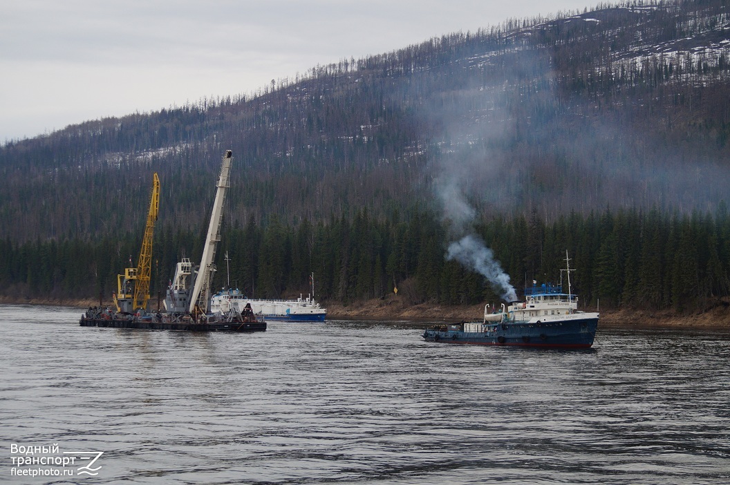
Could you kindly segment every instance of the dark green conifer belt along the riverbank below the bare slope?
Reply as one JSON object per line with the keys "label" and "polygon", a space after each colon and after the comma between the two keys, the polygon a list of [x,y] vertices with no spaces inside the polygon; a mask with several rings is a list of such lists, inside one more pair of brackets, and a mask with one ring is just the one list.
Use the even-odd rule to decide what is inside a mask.
{"label": "dark green conifer belt along the riverbank below the bare slope", "polygon": [[[572,213],[545,222],[530,217],[491,217],[475,233],[494,251],[519,290],[525,284],[561,281],[569,252],[574,290],[585,306],[698,311],[724,305],[730,290],[730,213],[666,213],[653,209]],[[183,255],[199,260],[199,230],[158,231],[152,295],[164,290]],[[101,241],[0,243],[0,292],[48,298],[111,295],[116,274],[135,258],[141,235]],[[215,287],[230,279],[256,298],[307,295],[315,274],[318,298],[353,302],[383,298],[399,288],[410,303],[496,303],[483,276],[445,260],[449,235],[434,214],[413,211],[377,218],[362,209],[351,220],[304,220],[266,226],[250,220],[226,228],[217,257]],[[229,261],[225,260],[228,252]],[[81,264],[80,264],[81,263]],[[229,271],[226,269],[229,268]]]}

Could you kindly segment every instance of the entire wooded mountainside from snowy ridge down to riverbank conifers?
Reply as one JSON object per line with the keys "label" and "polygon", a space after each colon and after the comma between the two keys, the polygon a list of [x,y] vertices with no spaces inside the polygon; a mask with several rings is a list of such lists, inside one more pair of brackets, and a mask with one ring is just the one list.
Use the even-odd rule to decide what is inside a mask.
{"label": "entire wooded mountainside from snowy ridge down to riverbank conifers", "polygon": [[[349,302],[496,301],[447,260],[464,231],[520,290],[565,251],[585,305],[694,311],[730,290],[730,6],[628,2],[506,20],[315,66],[257,93],[0,147],[0,292],[107,296],[161,179],[153,292],[199,258],[234,151],[218,287]],[[465,215],[466,214],[466,215]],[[465,218],[464,218],[465,217]],[[466,222],[464,222],[466,221]]]}

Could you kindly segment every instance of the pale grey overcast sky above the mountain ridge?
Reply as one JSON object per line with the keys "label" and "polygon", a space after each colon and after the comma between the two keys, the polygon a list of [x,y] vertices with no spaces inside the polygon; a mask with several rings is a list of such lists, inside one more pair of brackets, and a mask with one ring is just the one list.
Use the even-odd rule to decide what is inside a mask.
{"label": "pale grey overcast sky above the mountain ridge", "polygon": [[0,143],[597,0],[0,0]]}

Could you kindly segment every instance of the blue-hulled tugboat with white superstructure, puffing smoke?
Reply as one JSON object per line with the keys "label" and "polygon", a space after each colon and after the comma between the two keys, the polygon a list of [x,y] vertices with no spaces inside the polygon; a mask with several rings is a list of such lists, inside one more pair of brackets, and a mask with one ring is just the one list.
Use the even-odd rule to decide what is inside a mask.
{"label": "blue-hulled tugboat with white superstructure, puffing smoke", "polygon": [[525,289],[525,300],[510,303],[505,309],[491,311],[485,306],[484,318],[477,322],[439,325],[423,331],[429,342],[529,346],[556,349],[585,349],[593,345],[599,314],[579,311],[577,295],[570,287],[569,258],[566,252],[568,292],[562,285],[536,282]]}

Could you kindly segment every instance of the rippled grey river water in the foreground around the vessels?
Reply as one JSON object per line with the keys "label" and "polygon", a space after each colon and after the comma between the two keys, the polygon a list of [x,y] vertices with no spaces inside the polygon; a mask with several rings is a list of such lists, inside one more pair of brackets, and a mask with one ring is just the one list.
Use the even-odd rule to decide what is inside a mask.
{"label": "rippled grey river water in the foreground around the vessels", "polygon": [[[730,333],[599,325],[566,352],[427,343],[411,322],[185,333],[81,313],[0,306],[0,481],[730,482]],[[82,451],[103,451],[96,476]]]}

